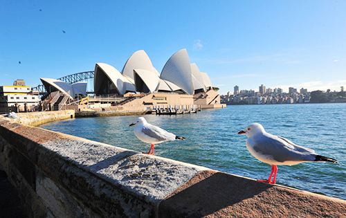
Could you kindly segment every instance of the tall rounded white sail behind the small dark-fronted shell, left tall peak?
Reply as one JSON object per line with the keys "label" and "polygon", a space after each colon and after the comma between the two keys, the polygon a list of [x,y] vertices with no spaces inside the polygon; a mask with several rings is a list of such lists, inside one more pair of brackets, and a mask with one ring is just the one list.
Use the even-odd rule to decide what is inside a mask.
{"label": "tall rounded white sail behind the small dark-fronted shell, left tall peak", "polygon": [[152,61],[144,50],[136,51],[129,57],[122,69],[122,75],[134,80],[134,69],[152,71],[158,75],[158,71],[156,71],[152,65]]}

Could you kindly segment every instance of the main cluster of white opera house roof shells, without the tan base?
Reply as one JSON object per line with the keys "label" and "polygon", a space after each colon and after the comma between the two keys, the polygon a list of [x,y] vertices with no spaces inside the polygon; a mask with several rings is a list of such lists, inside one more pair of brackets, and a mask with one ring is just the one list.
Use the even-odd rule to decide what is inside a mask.
{"label": "main cluster of white opera house roof shells, without the tan base", "polygon": [[174,53],[160,73],[154,68],[145,51],[129,57],[121,73],[104,63],[95,65],[94,91],[96,95],[139,93],[185,93],[193,95],[207,91],[212,84],[197,64],[190,63],[186,49]]}

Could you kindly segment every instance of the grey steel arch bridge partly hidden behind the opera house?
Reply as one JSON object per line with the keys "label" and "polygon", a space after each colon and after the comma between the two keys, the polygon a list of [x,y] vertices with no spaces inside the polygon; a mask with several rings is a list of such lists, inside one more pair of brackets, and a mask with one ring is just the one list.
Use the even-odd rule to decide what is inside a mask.
{"label": "grey steel arch bridge partly hidden behind the opera house", "polygon": [[[66,75],[62,78],[58,78],[57,80],[61,80],[69,84],[82,81],[88,82],[86,87],[86,93],[93,93],[93,73],[94,71],[73,73],[71,75]],[[44,95],[46,93],[46,89],[44,89],[44,85],[42,84],[39,84],[37,87],[33,87],[33,91],[39,91],[40,95]]]}

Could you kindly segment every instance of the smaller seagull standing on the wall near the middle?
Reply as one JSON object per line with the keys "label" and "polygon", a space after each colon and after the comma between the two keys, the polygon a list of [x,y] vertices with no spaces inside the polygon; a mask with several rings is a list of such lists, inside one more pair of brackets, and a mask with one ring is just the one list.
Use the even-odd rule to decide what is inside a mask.
{"label": "smaller seagull standing on the wall near the middle", "polygon": [[151,147],[147,154],[154,154],[155,144],[164,143],[169,140],[185,140],[183,136],[176,136],[165,129],[151,125],[145,118],[137,118],[137,121],[129,125],[134,127],[134,134],[136,137],[145,142],[150,143]]}

